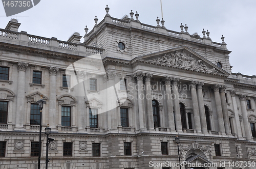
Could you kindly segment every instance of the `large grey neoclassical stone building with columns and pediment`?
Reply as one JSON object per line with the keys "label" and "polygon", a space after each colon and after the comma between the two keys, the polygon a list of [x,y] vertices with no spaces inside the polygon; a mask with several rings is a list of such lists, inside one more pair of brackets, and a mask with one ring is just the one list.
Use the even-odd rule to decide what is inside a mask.
{"label": "large grey neoclassical stone building with columns and pediment", "polygon": [[180,168],[177,135],[198,165],[181,168],[256,168],[256,76],[231,72],[224,37],[105,10],[83,43],[0,29],[0,168],[37,168],[40,96],[40,168],[47,124],[52,169]]}

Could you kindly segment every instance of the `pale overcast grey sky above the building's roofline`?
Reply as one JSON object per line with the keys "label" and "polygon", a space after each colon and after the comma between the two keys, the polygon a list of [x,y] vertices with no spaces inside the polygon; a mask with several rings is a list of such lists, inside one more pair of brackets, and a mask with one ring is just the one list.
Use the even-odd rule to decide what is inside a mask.
{"label": "pale overcast grey sky above the building's roofline", "polygon": [[[56,37],[67,41],[74,32],[84,35],[87,25],[92,30],[97,15],[98,23],[105,16],[105,6],[109,5],[109,14],[115,18],[129,15],[131,10],[138,11],[142,23],[157,25],[157,16],[161,18],[160,0],[94,0],[67,1],[41,0],[38,5],[25,12],[6,17],[3,5],[0,5],[0,27],[5,28],[11,18],[17,18],[20,31],[42,37]],[[187,24],[188,32],[209,30],[210,38],[221,43],[225,37],[232,72],[256,75],[256,1],[254,0],[162,0],[164,26],[168,30],[180,32],[180,23]],[[129,15],[130,16],[130,15]],[[81,38],[83,42],[83,38]]]}

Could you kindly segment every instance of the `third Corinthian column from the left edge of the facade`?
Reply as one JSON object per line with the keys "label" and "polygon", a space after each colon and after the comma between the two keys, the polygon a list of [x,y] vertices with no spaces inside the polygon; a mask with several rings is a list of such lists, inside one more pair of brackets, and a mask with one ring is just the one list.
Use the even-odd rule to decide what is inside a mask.
{"label": "third Corinthian column from the left edge of the facade", "polygon": [[[77,71],[78,78],[78,89],[77,89],[77,97],[78,97],[78,133],[86,133],[86,107],[84,106],[85,100],[85,91],[83,87],[84,76],[86,76],[86,72]],[[89,113],[89,112],[88,112]]]}

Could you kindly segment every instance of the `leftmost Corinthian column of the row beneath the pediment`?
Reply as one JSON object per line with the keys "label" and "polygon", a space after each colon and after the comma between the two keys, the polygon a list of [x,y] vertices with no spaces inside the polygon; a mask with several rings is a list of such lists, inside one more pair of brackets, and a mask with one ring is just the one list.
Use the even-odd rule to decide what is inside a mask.
{"label": "leftmost Corinthian column of the row beneath the pediment", "polygon": [[139,105],[139,123],[140,130],[146,130],[145,124],[145,103],[144,103],[144,94],[143,94],[143,76],[145,73],[137,72],[134,74],[134,77],[137,78],[138,86],[138,105]]}

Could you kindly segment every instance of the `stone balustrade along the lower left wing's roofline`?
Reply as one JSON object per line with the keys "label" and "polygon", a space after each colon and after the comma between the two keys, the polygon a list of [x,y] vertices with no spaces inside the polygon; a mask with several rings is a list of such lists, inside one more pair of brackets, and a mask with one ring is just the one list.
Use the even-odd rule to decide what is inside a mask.
{"label": "stone balustrade along the lower left wing's roofline", "polygon": [[[104,49],[99,48],[100,45],[88,46],[84,43],[72,43],[67,41],[60,41],[57,38],[45,38],[35,35],[29,35],[27,32],[14,32],[9,30],[0,29],[0,42],[19,44],[21,46],[35,47],[38,49],[51,50],[52,47],[55,48],[54,51],[60,50],[65,53],[77,54],[80,53],[104,53]],[[102,46],[101,46],[102,47]],[[86,55],[86,54],[84,54]]]}

